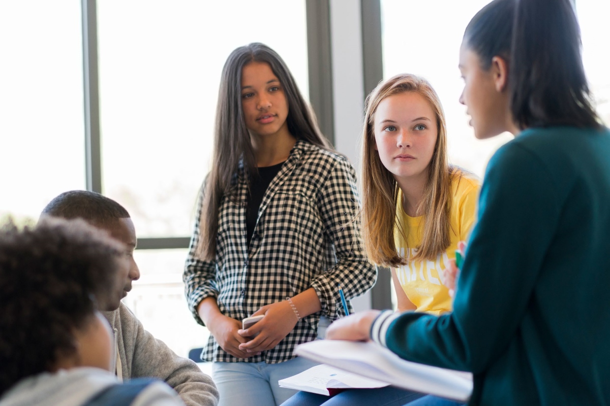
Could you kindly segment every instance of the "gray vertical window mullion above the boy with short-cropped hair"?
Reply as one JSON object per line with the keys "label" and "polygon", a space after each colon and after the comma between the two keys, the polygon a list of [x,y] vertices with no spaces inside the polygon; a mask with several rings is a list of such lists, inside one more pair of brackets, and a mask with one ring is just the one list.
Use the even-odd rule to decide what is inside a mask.
{"label": "gray vertical window mullion above the boy with short-cropped hair", "polygon": [[96,0],[81,0],[83,94],[85,107],[85,173],[88,191],[102,192],[99,132],[98,21]]}

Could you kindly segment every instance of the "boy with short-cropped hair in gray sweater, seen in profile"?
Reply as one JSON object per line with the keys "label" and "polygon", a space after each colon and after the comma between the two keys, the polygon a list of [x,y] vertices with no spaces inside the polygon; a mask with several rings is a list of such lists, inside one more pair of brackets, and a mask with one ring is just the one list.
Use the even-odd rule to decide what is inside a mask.
{"label": "boy with short-cropped hair in gray sweater, seen in profile", "polygon": [[140,278],[140,270],[133,257],[137,239],[129,212],[117,201],[99,193],[69,191],[51,200],[43,209],[41,218],[49,216],[83,219],[106,231],[127,248],[129,270],[118,277],[120,287],[117,297],[101,308],[115,335],[116,356],[111,369],[118,378],[162,379],[178,392],[187,406],[217,405],[218,391],[212,378],[201,372],[195,362],[179,357],[163,341],[154,338],[134,313],[121,303],[121,299],[131,290],[132,282]]}

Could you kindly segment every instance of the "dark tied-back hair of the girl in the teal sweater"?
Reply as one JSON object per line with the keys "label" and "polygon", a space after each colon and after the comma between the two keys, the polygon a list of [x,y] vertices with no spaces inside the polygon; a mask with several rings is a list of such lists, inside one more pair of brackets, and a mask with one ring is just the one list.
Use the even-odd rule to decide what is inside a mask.
{"label": "dark tied-back hair of the girl in the teal sweater", "polygon": [[570,0],[495,0],[472,18],[464,43],[483,69],[509,63],[515,123],[600,127],[581,58],[580,28]]}

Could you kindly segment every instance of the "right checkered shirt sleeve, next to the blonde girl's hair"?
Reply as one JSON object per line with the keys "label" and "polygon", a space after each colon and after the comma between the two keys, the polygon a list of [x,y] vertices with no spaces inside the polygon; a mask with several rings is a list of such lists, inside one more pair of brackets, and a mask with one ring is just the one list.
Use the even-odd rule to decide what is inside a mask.
{"label": "right checkered shirt sleeve, next to the blonde girl's hair", "polygon": [[338,159],[332,167],[320,191],[318,208],[326,237],[334,244],[337,264],[315,277],[311,287],[320,299],[323,314],[334,320],[337,304],[341,303],[339,284],[350,299],[371,289],[377,279],[376,267],[362,249],[359,221],[354,219],[359,208],[356,172],[346,159]]}

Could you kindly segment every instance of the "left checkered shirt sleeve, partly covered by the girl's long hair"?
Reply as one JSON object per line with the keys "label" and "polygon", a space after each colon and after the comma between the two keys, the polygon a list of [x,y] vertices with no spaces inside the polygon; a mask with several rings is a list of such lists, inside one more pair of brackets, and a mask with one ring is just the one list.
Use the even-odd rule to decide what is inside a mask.
{"label": "left checkered shirt sleeve, partly covered by the girl's long hair", "polygon": [[203,205],[206,181],[204,181],[199,191],[193,236],[191,237],[187,260],[184,265],[184,273],[182,274],[188,309],[190,309],[195,321],[202,326],[205,324],[199,317],[199,313],[197,313],[197,306],[208,296],[218,296],[216,265],[212,261],[201,260],[196,254],[199,243],[199,219],[201,217],[201,205]]}

